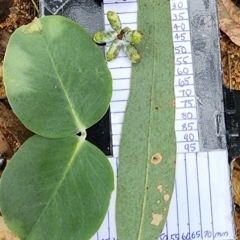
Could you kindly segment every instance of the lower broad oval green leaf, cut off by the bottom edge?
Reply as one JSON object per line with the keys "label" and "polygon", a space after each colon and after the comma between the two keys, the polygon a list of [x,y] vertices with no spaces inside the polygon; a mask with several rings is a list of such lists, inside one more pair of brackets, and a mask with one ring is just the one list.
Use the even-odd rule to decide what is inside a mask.
{"label": "lower broad oval green leaf, cut off by the bottom edge", "polygon": [[0,207],[21,239],[89,240],[114,188],[105,155],[78,136],[28,139],[7,165]]}

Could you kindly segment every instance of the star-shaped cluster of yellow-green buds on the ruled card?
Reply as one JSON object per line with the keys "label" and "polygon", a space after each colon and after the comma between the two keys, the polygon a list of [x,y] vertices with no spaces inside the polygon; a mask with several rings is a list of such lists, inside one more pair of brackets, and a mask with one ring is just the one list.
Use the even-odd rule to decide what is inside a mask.
{"label": "star-shaped cluster of yellow-green buds on the ruled card", "polygon": [[106,54],[107,61],[117,58],[120,49],[123,48],[132,63],[139,63],[140,54],[135,44],[144,38],[144,34],[138,30],[132,31],[129,27],[122,29],[120,18],[115,12],[107,12],[107,18],[114,31],[96,32],[93,37],[99,44],[112,42]]}

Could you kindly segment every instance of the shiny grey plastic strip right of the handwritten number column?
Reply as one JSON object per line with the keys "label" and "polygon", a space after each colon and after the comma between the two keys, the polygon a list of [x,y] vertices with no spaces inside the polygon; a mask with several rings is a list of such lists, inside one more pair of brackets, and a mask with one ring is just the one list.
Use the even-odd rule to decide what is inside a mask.
{"label": "shiny grey plastic strip right of the handwritten number column", "polygon": [[200,151],[226,149],[216,0],[188,0]]}

